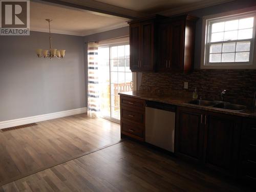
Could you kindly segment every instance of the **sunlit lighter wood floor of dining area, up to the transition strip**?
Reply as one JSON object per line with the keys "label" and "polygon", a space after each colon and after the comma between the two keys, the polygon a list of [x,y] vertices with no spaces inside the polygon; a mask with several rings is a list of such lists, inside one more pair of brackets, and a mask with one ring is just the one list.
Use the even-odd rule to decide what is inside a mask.
{"label": "sunlit lighter wood floor of dining area, up to the transition strip", "polygon": [[86,114],[0,133],[0,186],[120,141],[120,124]]}

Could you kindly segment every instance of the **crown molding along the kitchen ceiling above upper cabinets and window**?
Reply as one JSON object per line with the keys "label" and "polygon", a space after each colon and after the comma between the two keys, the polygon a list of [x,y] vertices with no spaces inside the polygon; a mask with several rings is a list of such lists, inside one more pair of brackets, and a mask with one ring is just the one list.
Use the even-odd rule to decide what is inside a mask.
{"label": "crown molding along the kitchen ceiling above upper cabinets and window", "polygon": [[223,4],[223,3],[227,3],[227,2],[232,2],[234,0],[205,0],[205,1],[200,1],[197,3],[192,3],[189,5],[185,5],[185,6],[180,6],[180,7],[176,7],[173,9],[168,9],[165,11],[161,11],[158,14],[160,15],[165,15],[165,16],[172,16],[172,15],[177,15],[177,14],[181,14],[181,13],[186,13],[189,11],[194,11],[197,9],[202,9],[205,7],[210,7],[210,6],[215,6],[218,4]]}

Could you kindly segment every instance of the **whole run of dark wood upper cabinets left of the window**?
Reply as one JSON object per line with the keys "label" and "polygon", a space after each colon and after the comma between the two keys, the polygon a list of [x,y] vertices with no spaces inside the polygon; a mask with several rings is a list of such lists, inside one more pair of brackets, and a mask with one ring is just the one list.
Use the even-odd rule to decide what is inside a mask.
{"label": "whole run of dark wood upper cabinets left of the window", "polygon": [[130,24],[130,69],[190,71],[193,69],[196,17],[154,15]]}

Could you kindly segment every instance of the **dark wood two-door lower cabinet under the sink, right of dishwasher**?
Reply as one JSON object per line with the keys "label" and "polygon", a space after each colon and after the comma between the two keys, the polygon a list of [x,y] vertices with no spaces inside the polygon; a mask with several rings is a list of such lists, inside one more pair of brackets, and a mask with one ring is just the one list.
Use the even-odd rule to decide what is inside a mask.
{"label": "dark wood two-door lower cabinet under the sink, right of dishwasher", "polygon": [[177,156],[235,177],[241,142],[237,116],[179,107],[176,116]]}

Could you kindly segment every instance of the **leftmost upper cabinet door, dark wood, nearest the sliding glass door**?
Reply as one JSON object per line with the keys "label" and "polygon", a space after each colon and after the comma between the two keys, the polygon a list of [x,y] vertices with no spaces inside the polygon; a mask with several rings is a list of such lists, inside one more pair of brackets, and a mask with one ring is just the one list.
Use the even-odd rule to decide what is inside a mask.
{"label": "leftmost upper cabinet door, dark wood, nearest the sliding glass door", "polygon": [[130,25],[130,69],[139,71],[140,63],[140,23]]}

